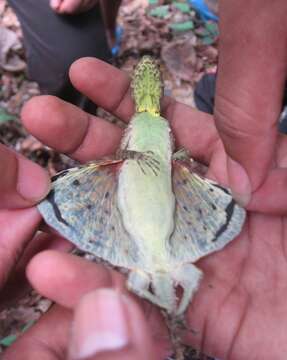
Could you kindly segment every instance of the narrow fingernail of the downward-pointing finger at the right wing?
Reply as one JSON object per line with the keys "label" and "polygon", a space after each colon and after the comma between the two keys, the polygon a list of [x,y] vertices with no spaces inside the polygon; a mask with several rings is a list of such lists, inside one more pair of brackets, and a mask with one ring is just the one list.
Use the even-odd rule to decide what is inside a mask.
{"label": "narrow fingernail of the downward-pointing finger at the right wing", "polygon": [[232,196],[239,205],[246,206],[251,199],[251,182],[247,172],[230,157],[227,157],[227,172]]}

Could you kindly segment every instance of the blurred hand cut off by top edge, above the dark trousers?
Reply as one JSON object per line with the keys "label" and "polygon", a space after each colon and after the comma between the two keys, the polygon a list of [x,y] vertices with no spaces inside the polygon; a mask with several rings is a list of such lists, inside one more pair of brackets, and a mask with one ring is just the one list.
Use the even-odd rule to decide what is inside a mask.
{"label": "blurred hand cut off by top edge, above the dark trousers", "polygon": [[51,8],[59,14],[76,14],[92,9],[98,0],[50,0]]}

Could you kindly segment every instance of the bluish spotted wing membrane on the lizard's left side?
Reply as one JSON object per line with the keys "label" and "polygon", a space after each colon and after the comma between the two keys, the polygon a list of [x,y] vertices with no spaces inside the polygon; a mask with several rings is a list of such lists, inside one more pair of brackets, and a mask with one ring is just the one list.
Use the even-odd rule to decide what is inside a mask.
{"label": "bluish spotted wing membrane on the lizard's left side", "polygon": [[48,225],[114,266],[139,261],[136,244],[124,229],[116,205],[116,175],[111,166],[91,163],[64,170],[38,209]]}

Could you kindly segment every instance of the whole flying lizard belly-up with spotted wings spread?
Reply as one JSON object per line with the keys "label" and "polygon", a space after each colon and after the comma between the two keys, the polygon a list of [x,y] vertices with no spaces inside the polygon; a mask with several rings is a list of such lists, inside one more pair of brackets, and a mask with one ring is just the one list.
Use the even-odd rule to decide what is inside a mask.
{"label": "whole flying lizard belly-up with spotted wings spread", "polygon": [[156,62],[144,56],[132,80],[135,114],[117,154],[57,174],[38,208],[78,248],[125,269],[129,290],[180,318],[203,276],[194,262],[240,233],[245,210],[174,152],[160,115],[162,87]]}

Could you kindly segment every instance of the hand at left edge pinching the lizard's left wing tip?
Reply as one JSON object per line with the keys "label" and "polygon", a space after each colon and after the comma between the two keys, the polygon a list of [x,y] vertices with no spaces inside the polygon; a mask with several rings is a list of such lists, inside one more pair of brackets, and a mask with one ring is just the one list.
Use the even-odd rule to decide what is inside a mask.
{"label": "hand at left edge pinching the lizard's left wing tip", "polygon": [[[32,161],[0,145],[0,307],[21,291],[23,281],[7,284],[13,272],[20,278],[23,266],[39,249],[39,241],[30,243],[41,217],[31,208],[46,196],[50,188],[48,174]],[[43,249],[42,247],[40,247]],[[16,267],[17,264],[17,267]],[[9,279],[10,280],[10,279]],[[9,289],[9,291],[8,291]]]}

